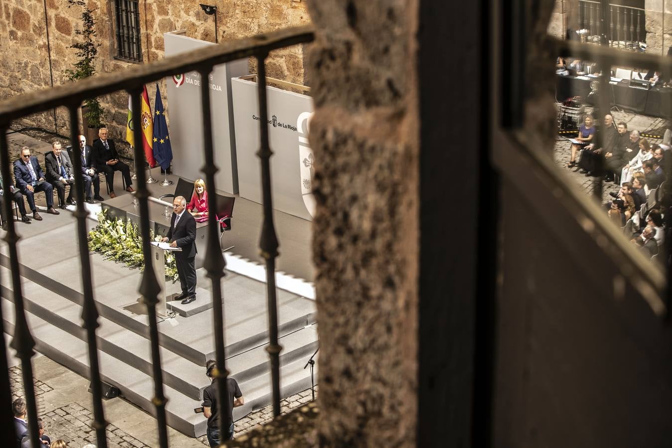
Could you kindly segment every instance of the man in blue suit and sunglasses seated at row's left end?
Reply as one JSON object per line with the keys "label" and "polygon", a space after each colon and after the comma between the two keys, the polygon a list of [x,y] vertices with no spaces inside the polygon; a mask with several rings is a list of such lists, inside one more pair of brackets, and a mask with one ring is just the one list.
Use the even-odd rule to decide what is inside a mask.
{"label": "man in blue suit and sunglasses seated at row's left end", "polygon": [[44,179],[44,171],[40,168],[38,159],[30,156],[28,146],[21,148],[21,158],[14,162],[14,178],[19,191],[28,199],[34,220],[42,221],[42,216],[35,206],[34,193],[38,191],[44,191],[46,196],[46,212],[52,215],[59,214],[58,210],[54,210],[54,187]]}

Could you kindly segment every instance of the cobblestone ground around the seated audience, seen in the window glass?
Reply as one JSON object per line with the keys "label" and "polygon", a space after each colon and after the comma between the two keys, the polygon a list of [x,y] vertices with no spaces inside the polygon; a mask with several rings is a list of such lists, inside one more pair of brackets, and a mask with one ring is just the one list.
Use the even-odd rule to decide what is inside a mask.
{"label": "cobblestone ground around the seated audience, seen in the window glass", "polygon": [[[590,107],[587,107],[587,111],[592,112],[592,109]],[[614,122],[627,123],[628,130],[638,130],[639,132],[645,132],[648,130],[659,130],[667,126],[667,120],[663,118],[638,115],[626,111],[612,111],[611,114],[612,116],[614,116]],[[593,116],[595,116],[595,114],[593,114]],[[595,120],[597,120],[596,116]],[[657,138],[646,137],[646,140],[648,140],[648,142],[652,145],[662,142],[661,139]],[[569,159],[571,159],[571,150],[570,150],[571,145],[572,144],[569,142],[569,140],[567,140],[564,137],[558,136],[554,144],[553,159],[558,165],[558,167],[562,169],[562,171],[568,173],[572,177],[572,179],[576,181],[577,185],[579,185],[579,188],[585,191],[586,194],[592,195],[593,188],[595,187],[595,177],[586,177],[585,175],[579,173],[579,167],[574,167],[571,169],[566,167],[567,164],[569,163]],[[632,157],[634,157],[635,154],[636,153],[633,152]],[[578,160],[579,160],[579,154],[577,154],[577,161]],[[618,185],[612,182],[603,183],[603,189],[602,189],[603,204],[612,199],[609,196],[609,193],[611,191],[618,191]]]}

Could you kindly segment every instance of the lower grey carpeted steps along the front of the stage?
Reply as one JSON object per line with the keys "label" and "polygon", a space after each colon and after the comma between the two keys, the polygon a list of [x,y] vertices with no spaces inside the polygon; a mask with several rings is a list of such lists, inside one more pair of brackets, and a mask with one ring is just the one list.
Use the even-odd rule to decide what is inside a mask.
{"label": "lower grey carpeted steps along the front of the stage", "polygon": [[[3,296],[7,292],[7,289],[3,289]],[[58,328],[57,323],[60,320],[58,322],[47,321],[36,316],[28,310],[28,308],[33,308],[32,304],[29,304],[30,301],[26,300],[26,317],[36,341],[36,350],[63,365],[67,365],[84,377],[88,377],[89,357],[85,341],[65,329]],[[71,305],[70,307],[73,308],[74,306]],[[33,308],[33,310],[42,312],[38,308]],[[5,331],[13,334],[13,303],[3,298],[2,312],[5,320]],[[61,309],[59,312],[63,312],[63,310]],[[83,332],[83,330],[81,331]],[[314,338],[314,342],[302,345],[302,341],[306,338]],[[100,341],[103,338],[99,336],[98,339]],[[317,332],[312,327],[302,328],[280,339],[280,343],[286,352],[286,355],[282,355],[280,358],[282,396],[290,396],[310,388],[310,371],[303,367],[314,352],[314,348],[317,347]],[[151,402],[154,394],[154,380],[151,371],[146,372],[137,369],[107,351],[102,351],[102,347],[98,353],[103,381],[117,386],[124,398],[154,414],[155,409]],[[165,355],[165,351],[162,351],[162,355]],[[179,362],[179,360],[175,358],[172,360],[162,359],[164,373],[166,369],[171,368],[170,364],[172,362]],[[237,420],[253,410],[267,406],[271,401],[271,377],[268,371],[265,346],[257,347],[227,359],[226,362],[226,367],[231,372],[230,375],[237,379],[243,396],[245,396],[245,405],[235,408],[234,419]],[[253,365],[254,363],[257,363],[257,365]],[[245,366],[250,365],[253,365],[253,367],[245,369]],[[183,378],[184,382],[198,382],[202,387],[209,384],[202,367],[185,372],[185,374],[187,377]],[[168,375],[164,375],[165,395],[169,398],[166,407],[168,424],[182,433],[192,437],[200,437],[205,433],[206,423],[202,414],[194,414],[193,408],[200,406],[201,398],[195,399],[193,396],[173,388],[167,377]]]}

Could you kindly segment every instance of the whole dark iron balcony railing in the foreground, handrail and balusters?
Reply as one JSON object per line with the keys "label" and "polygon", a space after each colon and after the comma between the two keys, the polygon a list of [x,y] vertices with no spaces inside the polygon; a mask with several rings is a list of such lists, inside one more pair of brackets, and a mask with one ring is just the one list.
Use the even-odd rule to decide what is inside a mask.
{"label": "whole dark iron balcony railing in the foreground, handrail and balusters", "polygon": [[[267,116],[266,104],[266,73],[265,59],[271,50],[277,50],[286,46],[305,44],[312,42],[314,34],[311,26],[302,26],[296,28],[286,28],[267,34],[259,34],[251,38],[244,38],[231,42],[226,42],[217,46],[208,46],[200,50],[190,52],[190,54],[166,58],[153,64],[143,64],[133,66],[130,69],[120,73],[108,73],[99,77],[85,79],[77,83],[62,85],[44,91],[36,91],[17,97],[12,97],[0,103],[0,164],[3,175],[3,189],[9,191],[11,177],[9,172],[9,148],[7,146],[6,132],[13,120],[17,120],[29,114],[42,112],[54,107],[65,106],[70,111],[71,144],[73,148],[79,145],[77,138],[79,134],[78,109],[81,103],[87,98],[106,95],[116,91],[125,90],[132,97],[132,107],[134,110],[140,110],[140,93],[145,83],[157,81],[164,77],[169,77],[178,73],[189,71],[198,71],[203,79],[207,79],[213,67],[237,60],[241,58],[254,57],[258,62],[257,88],[259,95],[259,114]],[[202,83],[201,87],[203,132],[204,132],[204,167],[202,171],[206,175],[206,187],[208,191],[216,191],[214,175],[218,171],[214,164],[214,154],[212,150],[212,117],[210,114],[210,93],[208,84]],[[140,129],[140,114],[134,114],[133,126]],[[260,148],[257,155],[261,161],[261,182],[263,189],[263,226],[259,247],[261,256],[265,259],[267,275],[267,298],[268,298],[268,316],[269,316],[269,353],[271,365],[271,386],[273,391],[273,410],[274,415],[280,414],[280,351],[282,347],[278,344],[278,304],[276,300],[275,266],[276,257],[278,257],[278,237],[273,222],[273,205],[271,196],[271,169],[269,159],[273,152],[269,146],[268,130],[266,120],[259,120]],[[163,393],[163,374],[161,371],[161,357],[159,355],[159,332],[157,328],[158,294],[160,292],[159,282],[155,277],[152,268],[152,257],[149,239],[149,190],[146,186],[146,173],[144,171],[144,159],[142,154],[142,134],[135,133],[134,159],[136,161],[136,175],[138,180],[138,189],[136,197],[140,208],[140,234],[142,236],[142,253],[146,263],[146,269],[142,273],[139,292],[142,294],[142,302],[147,307],[149,314],[149,336],[152,353],[152,368],[154,375],[154,397],[153,404],[156,408],[157,424],[159,432],[159,445],[161,448],[168,446],[167,423],[165,405],[168,398]],[[75,173],[81,170],[81,159],[73,157]],[[105,448],[108,446],[106,441],[106,427],[108,423],[103,414],[100,369],[98,361],[98,350],[95,339],[95,331],[98,327],[98,312],[94,299],[93,285],[91,282],[91,261],[89,259],[87,244],[86,218],[87,211],[84,207],[83,178],[75,176],[75,192],[77,199],[77,210],[75,218],[77,219],[77,238],[79,240],[79,259],[82,268],[83,283],[83,309],[82,320],[83,327],[87,330],[87,343],[89,347],[89,363],[91,375],[91,392],[93,394],[93,428],[96,431],[97,446]],[[215,206],[216,195],[208,197],[208,206],[211,210]],[[11,216],[11,201],[4,201],[6,216]],[[11,341],[11,347],[16,350],[23,370],[24,391],[26,394],[26,405],[28,407],[28,424],[31,437],[32,448],[42,446],[38,440],[37,429],[37,408],[34,394],[32,361],[34,355],[35,342],[28,328],[26,314],[24,312],[24,299],[22,296],[22,283],[19,274],[19,252],[17,241],[19,235],[15,230],[13,220],[8,220],[7,236],[5,240],[9,247],[9,259],[11,267],[11,283],[13,285],[13,302],[15,304],[15,330]],[[225,364],[224,353],[224,310],[222,306],[222,288],[220,281],[224,277],[224,267],[226,262],[220,251],[220,245],[217,234],[217,223],[214,214],[208,217],[208,249],[204,267],[208,278],[212,281],[212,305],[213,305],[213,326],[215,341],[215,358],[219,369],[213,371],[212,375],[216,378],[218,384],[218,403],[220,406],[220,415],[230,416],[228,406],[224,406],[226,394],[226,378],[228,371]],[[0,320],[2,319],[0,312]],[[6,360],[4,334],[0,341],[0,359]],[[11,403],[11,392],[9,391],[9,379],[6,361],[0,363],[0,379],[5,379],[0,386],[0,397],[4,406],[9,408]],[[7,398],[9,397],[9,398]],[[15,445],[15,433],[13,422],[3,420],[0,427],[0,439],[4,441],[2,446]]]}

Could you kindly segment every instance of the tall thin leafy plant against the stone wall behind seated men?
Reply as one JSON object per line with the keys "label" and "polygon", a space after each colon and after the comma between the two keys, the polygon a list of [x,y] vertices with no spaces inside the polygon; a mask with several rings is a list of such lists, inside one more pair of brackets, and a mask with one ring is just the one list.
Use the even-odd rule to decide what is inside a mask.
{"label": "tall thin leafy plant against the stone wall behind seated men", "polygon": [[[81,42],[75,42],[70,48],[77,50],[77,62],[75,62],[75,70],[67,70],[70,81],[77,81],[78,79],[85,79],[95,75],[95,58],[98,54],[98,47],[100,44],[93,42],[93,38],[97,37],[95,32],[95,19],[93,18],[93,10],[87,7],[84,0],[68,0],[68,7],[73,5],[83,7],[81,13],[82,29],[75,30],[77,36],[81,36]],[[98,129],[103,127],[103,107],[97,98],[89,98],[84,101],[82,106],[82,126],[85,134],[87,134],[87,141],[93,142],[98,138]]]}

